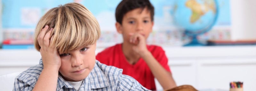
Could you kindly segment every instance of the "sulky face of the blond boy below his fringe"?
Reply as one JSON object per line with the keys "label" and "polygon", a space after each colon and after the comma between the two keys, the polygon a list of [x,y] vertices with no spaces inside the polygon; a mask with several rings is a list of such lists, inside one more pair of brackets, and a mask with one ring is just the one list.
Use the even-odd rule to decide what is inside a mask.
{"label": "sulky face of the blond boy below his fringe", "polygon": [[96,43],[62,54],[59,72],[66,81],[81,81],[95,65]]}

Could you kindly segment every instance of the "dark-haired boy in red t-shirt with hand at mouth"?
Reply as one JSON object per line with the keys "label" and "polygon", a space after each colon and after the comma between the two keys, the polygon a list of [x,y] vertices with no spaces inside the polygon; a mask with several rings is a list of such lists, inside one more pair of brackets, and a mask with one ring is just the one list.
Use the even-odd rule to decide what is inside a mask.
{"label": "dark-haired boy in red t-shirt with hand at mouth", "polygon": [[116,30],[123,43],[97,54],[96,59],[123,69],[150,90],[156,90],[154,77],[163,89],[176,87],[168,59],[160,46],[147,45],[154,25],[154,7],[148,0],[123,0],[116,8]]}

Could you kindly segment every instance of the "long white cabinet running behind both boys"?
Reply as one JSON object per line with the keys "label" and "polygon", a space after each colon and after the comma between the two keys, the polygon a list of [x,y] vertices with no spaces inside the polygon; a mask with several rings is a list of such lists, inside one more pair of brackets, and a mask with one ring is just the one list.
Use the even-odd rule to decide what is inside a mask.
{"label": "long white cabinet running behind both boys", "polygon": [[[243,81],[244,91],[256,91],[256,46],[163,48],[177,85],[228,91],[230,81]],[[97,48],[96,53],[101,50]],[[36,50],[0,50],[0,75],[24,71],[40,58]]]}

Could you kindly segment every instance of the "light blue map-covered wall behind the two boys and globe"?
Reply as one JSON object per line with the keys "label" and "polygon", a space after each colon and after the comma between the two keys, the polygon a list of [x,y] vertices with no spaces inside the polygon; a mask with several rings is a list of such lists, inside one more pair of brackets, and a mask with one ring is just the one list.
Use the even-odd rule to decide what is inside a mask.
{"label": "light blue map-covered wall behind the two boys and globe", "polygon": [[[32,34],[36,26],[36,21],[37,19],[39,19],[39,17],[41,17],[41,15],[46,12],[47,9],[49,9],[50,7],[56,7],[59,4],[73,2],[73,0],[25,1],[27,1],[28,3],[15,0],[2,0],[2,3],[5,5],[2,15],[2,17],[4,17],[2,18],[2,34],[4,35],[3,39],[32,39]],[[95,15],[95,17],[99,21],[101,33],[102,35],[104,34],[104,36],[101,36],[98,41],[98,44],[102,45],[97,45],[98,47],[112,46],[116,43],[120,43],[123,41],[121,34],[118,34],[115,28],[114,13],[116,5],[119,3],[118,1],[120,0],[103,0],[103,3],[97,3],[95,0],[81,0],[81,3],[84,4]],[[156,44],[162,46],[182,46],[184,44],[187,44],[190,39],[187,36],[182,35],[184,29],[179,29],[178,26],[174,23],[174,12],[176,12],[174,1],[178,0],[150,1],[155,6],[155,20],[153,32],[148,37],[148,44]],[[221,8],[220,11],[225,11],[224,13],[226,14],[223,14],[223,12],[219,13],[219,19],[217,20],[216,25],[211,31],[208,32],[208,34],[205,34],[206,36],[200,37],[202,38],[201,40],[230,39],[229,32],[232,30],[230,30],[229,0],[217,1],[220,1],[221,5],[224,7]],[[97,5],[100,7],[98,8]],[[222,15],[226,16],[224,18],[220,17]],[[109,18],[106,19],[106,17]]]}

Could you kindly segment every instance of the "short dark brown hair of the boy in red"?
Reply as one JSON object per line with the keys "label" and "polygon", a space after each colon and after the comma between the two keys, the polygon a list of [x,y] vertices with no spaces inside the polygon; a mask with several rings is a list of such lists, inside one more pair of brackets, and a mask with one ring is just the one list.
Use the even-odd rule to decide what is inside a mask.
{"label": "short dark brown hair of the boy in red", "polygon": [[116,7],[116,22],[122,24],[124,15],[137,8],[147,8],[150,11],[151,21],[154,21],[154,6],[149,0],[122,0]]}

